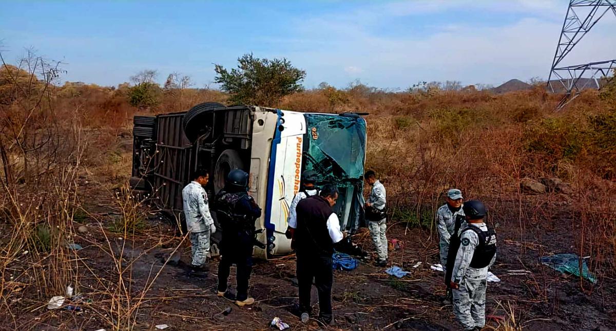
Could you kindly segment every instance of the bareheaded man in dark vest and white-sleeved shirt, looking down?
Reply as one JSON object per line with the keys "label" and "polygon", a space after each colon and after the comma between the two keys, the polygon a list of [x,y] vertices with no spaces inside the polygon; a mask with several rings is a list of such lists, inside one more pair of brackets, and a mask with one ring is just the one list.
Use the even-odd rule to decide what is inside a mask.
{"label": "bareheaded man in dark vest and white-sleeved shirt, looking down", "polygon": [[333,271],[331,255],[334,243],[342,240],[340,221],[331,207],[338,200],[338,189],[327,184],[318,195],[301,200],[296,207],[295,230],[297,251],[297,276],[299,287],[299,311],[302,322],[307,322],[311,313],[310,290],[312,282],[318,293],[318,319],[331,324],[331,286]]}

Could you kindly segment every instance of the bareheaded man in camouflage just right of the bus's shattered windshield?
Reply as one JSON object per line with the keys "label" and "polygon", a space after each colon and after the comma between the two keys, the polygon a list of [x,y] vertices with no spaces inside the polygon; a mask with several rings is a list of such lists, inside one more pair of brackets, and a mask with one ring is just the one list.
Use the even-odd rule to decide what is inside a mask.
{"label": "bareheaded man in camouflage just right of the bus's shattered windshield", "polygon": [[387,231],[386,215],[386,192],[385,187],[376,179],[376,174],[372,170],[368,170],[363,178],[372,186],[370,197],[366,202],[366,218],[368,219],[368,228],[370,228],[370,236],[376,247],[378,259],[376,266],[387,265]]}

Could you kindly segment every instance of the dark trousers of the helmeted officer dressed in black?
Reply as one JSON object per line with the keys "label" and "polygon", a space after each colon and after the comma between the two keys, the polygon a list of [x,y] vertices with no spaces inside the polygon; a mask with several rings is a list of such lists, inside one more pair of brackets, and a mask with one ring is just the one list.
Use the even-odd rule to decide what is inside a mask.
{"label": "dark trousers of the helmeted officer dressed in black", "polygon": [[253,270],[253,242],[248,235],[225,236],[221,240],[221,262],[218,264],[218,290],[227,291],[231,265],[237,266],[237,300],[248,298],[248,281]]}

